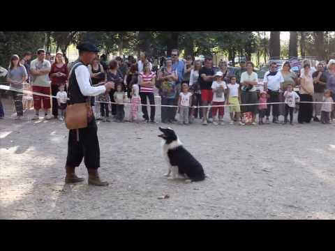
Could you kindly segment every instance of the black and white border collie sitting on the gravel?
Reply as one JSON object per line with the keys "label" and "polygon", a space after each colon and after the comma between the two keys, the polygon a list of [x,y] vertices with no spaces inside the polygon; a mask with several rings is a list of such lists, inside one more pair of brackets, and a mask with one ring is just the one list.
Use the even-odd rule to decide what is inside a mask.
{"label": "black and white border collie sitting on the gravel", "polygon": [[172,128],[159,128],[163,134],[158,135],[163,139],[163,155],[168,162],[168,174],[171,179],[188,178],[191,181],[203,181],[204,169],[198,160],[189,153],[181,144]]}

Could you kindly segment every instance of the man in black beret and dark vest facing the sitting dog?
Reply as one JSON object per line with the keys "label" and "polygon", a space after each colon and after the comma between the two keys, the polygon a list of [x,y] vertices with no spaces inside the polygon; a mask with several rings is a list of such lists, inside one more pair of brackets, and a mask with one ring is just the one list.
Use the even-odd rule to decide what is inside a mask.
{"label": "man in black beret and dark vest facing the sitting dog", "polygon": [[[70,68],[68,78],[69,104],[87,102],[90,96],[97,96],[114,88],[113,82],[107,82],[102,86],[91,86],[91,77],[87,66],[96,58],[98,48],[84,42],[77,45],[79,59]],[[87,128],[70,130],[68,135],[68,157],[66,159],[66,183],[84,181],[75,175],[75,167],[78,167],[84,158],[85,166],[89,173],[90,185],[108,185],[100,180],[98,168],[100,167],[100,149],[97,135],[96,121],[93,118]]]}

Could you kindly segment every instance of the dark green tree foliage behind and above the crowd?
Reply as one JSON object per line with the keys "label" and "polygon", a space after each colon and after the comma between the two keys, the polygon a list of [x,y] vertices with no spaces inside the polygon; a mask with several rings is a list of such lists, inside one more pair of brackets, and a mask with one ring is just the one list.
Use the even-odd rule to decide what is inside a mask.
{"label": "dark green tree foliage behind and above the crowd", "polygon": [[[271,31],[271,38],[265,31],[46,31],[15,32],[0,31],[0,63],[8,65],[11,54],[22,54],[29,50],[36,52],[40,47],[54,52],[66,50],[80,41],[91,40],[105,54],[135,54],[147,52],[149,56],[170,55],[177,48],[181,56],[200,54],[224,54],[234,63],[237,56],[256,61],[267,61],[272,56],[295,55],[329,57],[335,52],[334,31],[291,31],[290,46],[280,45],[280,32]],[[291,56],[292,56],[291,55]]]}

